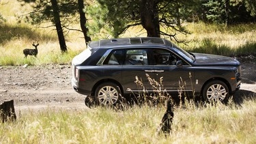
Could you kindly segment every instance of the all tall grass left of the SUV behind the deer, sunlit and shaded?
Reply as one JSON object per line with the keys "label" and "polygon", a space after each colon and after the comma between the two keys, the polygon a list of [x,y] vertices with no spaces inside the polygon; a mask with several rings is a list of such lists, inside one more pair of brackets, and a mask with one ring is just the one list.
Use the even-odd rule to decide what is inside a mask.
{"label": "all tall grass left of the SUV behind the deer, sunlit and shaded", "polygon": [[[17,16],[30,12],[30,5],[21,6],[18,1],[1,1],[1,14],[6,22],[0,24],[0,66],[20,66],[23,64],[42,65],[48,63],[71,63],[72,58],[81,53],[86,46],[83,33],[65,31],[68,53],[61,53],[55,27],[39,28],[29,23],[19,22]],[[44,23],[43,27],[52,25]],[[78,25],[73,25],[78,27]],[[25,59],[23,49],[34,48],[37,41],[38,57],[28,56]]]}

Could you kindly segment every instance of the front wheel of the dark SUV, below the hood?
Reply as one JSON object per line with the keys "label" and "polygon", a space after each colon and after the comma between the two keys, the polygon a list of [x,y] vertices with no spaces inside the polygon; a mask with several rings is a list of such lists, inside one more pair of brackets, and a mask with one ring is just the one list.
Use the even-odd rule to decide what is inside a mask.
{"label": "front wheel of the dark SUV, below the hood", "polygon": [[203,87],[203,99],[207,102],[227,102],[229,89],[223,81],[210,81]]}

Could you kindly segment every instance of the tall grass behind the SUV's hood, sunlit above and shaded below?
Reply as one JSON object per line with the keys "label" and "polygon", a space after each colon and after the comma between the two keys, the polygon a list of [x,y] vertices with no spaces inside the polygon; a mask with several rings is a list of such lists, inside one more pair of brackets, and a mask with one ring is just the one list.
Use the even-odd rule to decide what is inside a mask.
{"label": "tall grass behind the SUV's hood, sunlit above and shaded below", "polygon": [[189,23],[190,35],[180,35],[188,41],[182,48],[190,52],[225,56],[256,55],[256,24],[216,25]]}

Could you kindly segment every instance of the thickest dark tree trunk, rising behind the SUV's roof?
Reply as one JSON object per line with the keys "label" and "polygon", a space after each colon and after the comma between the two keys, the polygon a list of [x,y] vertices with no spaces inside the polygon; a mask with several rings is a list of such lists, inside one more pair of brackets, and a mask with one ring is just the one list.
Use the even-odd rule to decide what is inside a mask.
{"label": "thickest dark tree trunk, rising behind the SUV's roof", "polygon": [[157,3],[154,0],[142,0],[140,15],[141,25],[147,31],[147,37],[160,38]]}

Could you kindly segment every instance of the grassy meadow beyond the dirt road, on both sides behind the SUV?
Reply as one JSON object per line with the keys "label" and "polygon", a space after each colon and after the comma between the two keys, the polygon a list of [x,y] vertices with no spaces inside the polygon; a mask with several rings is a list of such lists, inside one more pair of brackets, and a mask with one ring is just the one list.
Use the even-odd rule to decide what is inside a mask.
{"label": "grassy meadow beyond the dirt road, on both sides behind the SUV", "polygon": [[[177,35],[180,40],[186,40],[186,44],[177,43],[186,51],[194,53],[210,53],[229,57],[256,55],[256,25],[208,25],[204,23],[188,23],[190,34]],[[43,64],[70,64],[72,58],[86,48],[82,33],[70,31],[66,35],[68,53],[61,53],[55,30],[42,29],[27,26],[24,23],[12,25],[5,23],[0,25],[0,65],[20,66]],[[141,27],[128,29],[121,37],[145,36],[145,33],[136,31]],[[133,33],[131,33],[133,31]],[[38,42],[38,57],[24,58],[23,49],[33,48],[32,43]]]}

